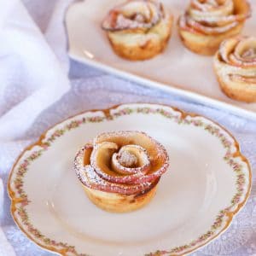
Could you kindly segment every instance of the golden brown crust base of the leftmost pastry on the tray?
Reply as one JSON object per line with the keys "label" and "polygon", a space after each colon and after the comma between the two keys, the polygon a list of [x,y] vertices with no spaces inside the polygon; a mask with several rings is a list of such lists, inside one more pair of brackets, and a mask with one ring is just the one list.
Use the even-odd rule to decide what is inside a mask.
{"label": "golden brown crust base of the leftmost pastry on the tray", "polygon": [[[134,2],[147,4],[147,1]],[[131,1],[127,3],[131,3]],[[154,1],[151,0],[148,3],[154,3]],[[163,12],[161,5],[159,11]],[[163,13],[157,22],[152,23],[152,26],[106,29],[106,32],[108,40],[117,55],[130,61],[143,61],[160,54],[166,49],[172,34],[172,20],[172,15]],[[138,26],[140,25],[141,23]]]}

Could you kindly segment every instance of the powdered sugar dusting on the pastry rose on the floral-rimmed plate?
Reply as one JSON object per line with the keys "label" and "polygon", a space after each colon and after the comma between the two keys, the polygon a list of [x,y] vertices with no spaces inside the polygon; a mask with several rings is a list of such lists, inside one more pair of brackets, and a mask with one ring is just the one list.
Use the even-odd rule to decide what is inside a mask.
{"label": "powdered sugar dusting on the pastry rose on the floral-rimmed plate", "polygon": [[[120,136],[120,135],[128,136],[128,134],[138,134],[139,136],[147,136],[143,132],[139,131],[118,131],[118,132],[109,132],[109,133],[103,133],[99,135],[98,137],[95,138],[94,140],[94,147],[95,143],[100,140],[100,138],[103,136],[104,138],[111,138],[114,135],[115,136]],[[147,136],[148,137],[148,136]],[[154,141],[153,138],[148,137],[150,141]],[[142,193],[143,191],[149,189],[151,186],[154,185],[154,183],[158,182],[160,176],[166,172],[168,166],[169,166],[169,158],[166,153],[166,149],[163,148],[160,143],[155,142],[155,149],[157,150],[158,154],[156,159],[154,161],[161,160],[162,165],[160,166],[159,169],[154,170],[154,172],[150,172],[150,161],[148,158],[145,158],[143,155],[144,160],[144,165],[143,166],[137,166],[133,168],[129,167],[129,165],[134,165],[134,161],[138,160],[136,155],[132,155],[126,150],[121,151],[120,157],[123,158],[121,162],[119,162],[119,165],[122,166],[121,164],[128,165],[128,166],[122,166],[123,168],[126,169],[132,169],[133,172],[136,173],[131,173],[127,175],[122,175],[122,176],[112,176],[108,177],[109,174],[106,173],[106,175],[102,175],[102,170],[101,172],[97,172],[96,168],[98,166],[95,166],[94,162],[94,157],[96,154],[92,152],[91,154],[91,162],[90,165],[84,166],[84,152],[88,149],[86,148],[86,145],[81,148],[78,152],[78,154],[75,157],[74,160],[74,170],[77,173],[77,176],[79,177],[79,180],[81,183],[84,184],[84,186],[90,188],[90,189],[98,189],[106,192],[112,192],[112,193],[120,193],[124,195],[131,195],[131,194],[137,194],[137,193]],[[130,145],[129,145],[130,146]],[[141,146],[138,145],[131,145],[139,148],[141,150]],[[125,147],[124,147],[125,148]],[[93,151],[95,148],[93,148]],[[143,150],[145,150],[143,148]],[[93,155],[94,154],[94,155]],[[116,153],[115,153],[116,155]],[[94,163],[93,163],[94,162]],[[106,179],[106,177],[108,177]]]}

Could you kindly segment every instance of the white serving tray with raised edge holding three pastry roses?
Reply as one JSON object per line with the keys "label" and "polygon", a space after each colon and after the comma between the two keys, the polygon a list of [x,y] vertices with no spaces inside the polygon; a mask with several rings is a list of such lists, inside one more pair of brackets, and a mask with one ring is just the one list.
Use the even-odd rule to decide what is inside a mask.
{"label": "white serving tray with raised edge holding three pastry roses", "polygon": [[[177,17],[188,1],[162,0],[174,16],[172,38],[161,55],[148,61],[125,61],[113,53],[101,23],[108,10],[125,0],[85,0],[67,10],[66,24],[69,55],[94,67],[132,79],[151,87],[193,98],[213,107],[256,118],[256,103],[231,100],[219,89],[212,70],[212,57],[196,55],[185,49],[177,35]],[[246,22],[244,34],[256,36],[256,3],[250,1],[253,16]],[[167,86],[166,86],[167,85]]]}

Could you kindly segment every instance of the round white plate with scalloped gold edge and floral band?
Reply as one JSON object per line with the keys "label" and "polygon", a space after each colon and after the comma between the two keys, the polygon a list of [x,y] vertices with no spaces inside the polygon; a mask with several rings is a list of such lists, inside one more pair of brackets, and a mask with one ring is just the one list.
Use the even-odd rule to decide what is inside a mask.
{"label": "round white plate with scalloped gold edge and floral band", "polygon": [[[127,130],[162,143],[170,167],[146,207],[104,212],[84,194],[73,159],[98,133]],[[15,222],[39,246],[63,255],[192,252],[226,230],[250,186],[249,164],[228,131],[151,104],[86,112],[55,125],[26,148],[9,176]]]}

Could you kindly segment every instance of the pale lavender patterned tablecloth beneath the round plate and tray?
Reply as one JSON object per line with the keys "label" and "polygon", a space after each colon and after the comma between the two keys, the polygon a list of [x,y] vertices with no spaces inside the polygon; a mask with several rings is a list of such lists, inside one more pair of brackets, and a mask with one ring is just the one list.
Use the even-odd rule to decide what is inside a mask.
{"label": "pale lavender patterned tablecloth beneath the round plate and tray", "polygon": [[[70,1],[70,0],[69,0]],[[23,0],[33,18],[45,30],[50,19],[50,9],[55,3],[64,3],[65,0],[50,1],[45,8],[38,8],[37,1]],[[67,2],[67,1],[66,1]],[[58,5],[60,7],[60,5]],[[135,84],[125,79],[119,79],[95,68],[85,66],[76,61],[70,61],[69,79],[71,90],[60,101],[41,113],[26,135],[19,138],[14,145],[0,147],[0,173],[6,188],[8,172],[15,161],[17,154],[26,145],[34,142],[49,126],[66,119],[67,117],[93,108],[108,108],[119,103],[128,102],[155,102],[168,104],[184,111],[199,113],[207,118],[224,125],[238,140],[241,152],[247,157],[253,170],[253,188],[246,206],[234,218],[230,228],[212,243],[192,255],[256,255],[256,122],[243,119],[225,112],[222,109],[209,108],[189,101],[183,96],[176,96],[162,90],[150,89],[141,84]],[[3,175],[2,175],[3,173]],[[10,201],[5,191],[3,218],[0,224],[8,241],[15,248],[18,256],[54,255],[36,246],[17,228],[9,213]],[[1,215],[0,215],[1,216]],[[1,245],[0,245],[1,255]],[[1,255],[2,256],[2,255]]]}

